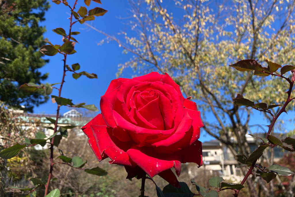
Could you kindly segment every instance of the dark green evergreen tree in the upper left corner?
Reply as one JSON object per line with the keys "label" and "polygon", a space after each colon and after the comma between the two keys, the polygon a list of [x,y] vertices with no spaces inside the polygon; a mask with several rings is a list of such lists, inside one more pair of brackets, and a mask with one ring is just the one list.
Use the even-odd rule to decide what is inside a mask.
{"label": "dark green evergreen tree in the upper left corner", "polygon": [[38,49],[44,45],[46,0],[0,0],[0,100],[32,111],[34,105],[46,102],[44,91],[26,93],[18,89],[24,83],[39,84],[48,74],[38,69],[48,60]]}

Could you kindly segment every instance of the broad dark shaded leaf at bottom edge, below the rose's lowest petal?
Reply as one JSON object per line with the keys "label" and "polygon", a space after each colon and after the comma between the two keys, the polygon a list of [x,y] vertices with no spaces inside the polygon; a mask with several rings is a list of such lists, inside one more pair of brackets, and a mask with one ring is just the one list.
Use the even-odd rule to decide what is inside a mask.
{"label": "broad dark shaded leaf at bottom edge, below the rose's lowest petal", "polygon": [[191,192],[189,187],[184,182],[180,182],[180,188],[176,188],[173,185],[169,184],[163,188],[163,193],[165,197],[192,197],[194,193]]}

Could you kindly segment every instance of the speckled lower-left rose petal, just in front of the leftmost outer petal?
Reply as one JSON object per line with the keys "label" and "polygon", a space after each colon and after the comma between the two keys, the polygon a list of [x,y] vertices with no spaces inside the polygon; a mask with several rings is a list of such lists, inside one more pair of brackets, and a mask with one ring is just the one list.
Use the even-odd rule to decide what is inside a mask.
{"label": "speckled lower-left rose petal, just in front of the leftmost outer petal", "polygon": [[93,125],[91,128],[102,157],[107,155],[111,159],[109,163],[112,164],[132,166],[128,154],[112,141],[105,126]]}

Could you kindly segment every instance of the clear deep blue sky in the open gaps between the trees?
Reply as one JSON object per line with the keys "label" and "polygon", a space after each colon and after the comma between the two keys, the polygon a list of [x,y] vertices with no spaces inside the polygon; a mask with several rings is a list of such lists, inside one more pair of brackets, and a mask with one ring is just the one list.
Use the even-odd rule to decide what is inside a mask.
{"label": "clear deep blue sky in the open gaps between the trees", "polygon": [[[69,1],[69,4],[70,3],[73,3],[73,1]],[[78,1],[78,3],[77,8],[85,6],[81,0]],[[52,29],[62,27],[66,32],[68,32],[68,17],[70,16],[70,11],[62,4],[57,5],[51,1],[50,4],[51,7],[45,15],[46,21],[41,23],[41,25],[45,25],[47,29],[44,37],[48,38],[48,40],[50,40],[53,44],[62,44],[62,37],[55,34]],[[97,4],[91,1],[90,7],[93,8],[94,6],[104,8],[108,10],[108,12],[102,17],[96,17],[94,21],[89,21],[89,24],[110,35],[116,35],[122,30],[128,33],[129,26],[124,24],[127,20],[120,19],[120,17],[125,19],[130,17],[127,0],[103,0],[102,4]],[[111,80],[116,78],[118,64],[128,61],[130,55],[123,55],[122,48],[120,48],[114,41],[98,45],[98,43],[104,39],[105,36],[90,29],[86,25],[76,23],[73,26],[72,31],[79,31],[81,34],[75,36],[76,40],[79,42],[75,45],[77,53],[68,56],[67,64],[71,66],[71,64],[79,63],[81,66],[80,71],[95,73],[97,74],[98,79],[89,79],[86,76],[81,76],[76,80],[71,76],[72,73],[68,72],[68,76],[65,78],[65,84],[62,90],[62,97],[73,99],[74,104],[85,102],[87,105],[94,104],[97,108],[99,108],[100,97],[106,91]],[[46,56],[46,58],[49,58],[50,62],[40,69],[40,71],[42,73],[48,72],[49,77],[43,83],[59,83],[63,72],[63,61],[61,61],[63,56],[57,54],[53,57]],[[135,73],[130,70],[123,73],[123,77],[126,78],[131,78],[133,75],[135,75]],[[57,87],[59,87],[59,85]],[[52,95],[58,95],[58,91],[54,89]],[[56,113],[56,108],[57,105],[53,104],[51,100],[48,100],[46,104],[35,107],[34,113]],[[63,114],[68,110],[69,109],[67,107],[63,106],[60,109],[60,113]],[[283,114],[281,118],[287,120],[290,116]],[[262,115],[259,112],[255,113],[255,116],[252,117],[250,123],[267,125],[267,122],[262,119]],[[293,123],[287,123],[286,126],[291,129],[293,128]],[[254,129],[253,132],[255,132]],[[208,134],[204,137],[204,134],[205,132],[203,130],[201,133],[201,141],[213,139]]]}

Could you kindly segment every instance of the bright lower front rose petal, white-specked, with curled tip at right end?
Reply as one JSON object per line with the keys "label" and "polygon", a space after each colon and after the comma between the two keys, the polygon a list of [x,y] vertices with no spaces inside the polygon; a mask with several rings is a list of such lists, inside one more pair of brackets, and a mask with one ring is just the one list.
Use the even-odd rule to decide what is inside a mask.
{"label": "bright lower front rose petal, white-specked, with curled tip at right end", "polygon": [[172,167],[175,168],[177,174],[181,171],[181,162],[179,161],[165,161],[150,157],[142,152],[142,150],[129,149],[127,150],[129,157],[132,161],[144,170],[151,178],[164,170]]}

